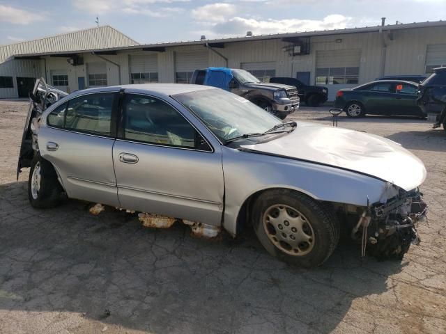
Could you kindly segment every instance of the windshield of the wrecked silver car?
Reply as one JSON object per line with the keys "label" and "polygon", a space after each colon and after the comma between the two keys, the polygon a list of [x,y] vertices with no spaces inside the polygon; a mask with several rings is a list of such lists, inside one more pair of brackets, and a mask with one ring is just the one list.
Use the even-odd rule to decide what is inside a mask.
{"label": "windshield of the wrecked silver car", "polygon": [[263,133],[282,124],[279,118],[221,89],[206,89],[173,96],[192,111],[223,143],[244,134]]}

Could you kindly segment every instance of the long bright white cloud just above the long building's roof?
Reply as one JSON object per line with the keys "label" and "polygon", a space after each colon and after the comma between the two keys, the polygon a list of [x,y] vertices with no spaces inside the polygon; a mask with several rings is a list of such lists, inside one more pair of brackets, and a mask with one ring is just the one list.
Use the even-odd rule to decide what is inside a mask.
{"label": "long bright white cloud just above the long building's roof", "polygon": [[213,26],[213,31],[219,35],[244,35],[252,31],[254,35],[268,33],[289,33],[296,31],[314,31],[324,29],[344,29],[351,17],[332,14],[318,19],[247,19],[233,17],[226,22],[219,22]]}

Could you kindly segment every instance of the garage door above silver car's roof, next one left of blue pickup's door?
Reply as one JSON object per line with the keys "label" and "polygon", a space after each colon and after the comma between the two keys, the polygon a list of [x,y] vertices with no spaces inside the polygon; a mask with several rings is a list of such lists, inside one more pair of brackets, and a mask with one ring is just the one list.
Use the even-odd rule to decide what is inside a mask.
{"label": "garage door above silver car's roof, next one left of blue pickup's door", "polygon": [[132,84],[158,82],[158,56],[130,56],[130,79]]}

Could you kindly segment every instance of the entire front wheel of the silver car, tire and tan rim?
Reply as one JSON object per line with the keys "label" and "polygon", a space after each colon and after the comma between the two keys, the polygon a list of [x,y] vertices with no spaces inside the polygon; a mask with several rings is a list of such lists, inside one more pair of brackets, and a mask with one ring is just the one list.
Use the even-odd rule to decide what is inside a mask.
{"label": "entire front wheel of the silver car, tire and tan rim", "polygon": [[339,223],[328,207],[312,198],[277,189],[254,203],[254,231],[268,253],[300,267],[317,267],[339,241]]}

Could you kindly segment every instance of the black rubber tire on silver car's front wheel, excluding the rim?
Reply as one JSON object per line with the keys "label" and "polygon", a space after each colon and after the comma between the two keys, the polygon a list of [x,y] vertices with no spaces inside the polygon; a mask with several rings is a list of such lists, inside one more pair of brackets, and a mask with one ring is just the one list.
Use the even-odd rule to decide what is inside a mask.
{"label": "black rubber tire on silver car's front wheel, excluding the rim", "polygon": [[[275,228],[271,228],[270,225],[272,224],[268,223],[267,221],[269,218],[266,218],[270,217],[266,213],[269,213],[271,208],[274,210],[275,206],[278,206],[277,209],[280,209],[280,207],[283,206],[286,210],[286,214],[289,214],[289,208],[294,209],[295,212],[298,212],[298,217],[303,216],[302,218],[304,218],[304,221],[309,224],[307,230],[311,230],[310,233],[305,232],[305,223],[302,225],[302,232],[305,232],[307,237],[312,236],[312,239],[309,239],[312,246],[310,246],[308,242],[307,249],[305,250],[304,247],[300,255],[298,255],[300,246],[298,246],[299,251],[296,252],[290,244],[287,244],[284,241],[277,241],[277,239],[275,241],[272,240],[275,236],[282,238],[277,235],[277,231],[272,231],[275,230]],[[309,196],[296,191],[288,189],[266,191],[261,193],[253,206],[252,217],[254,231],[268,253],[279,258],[279,260],[305,268],[317,267],[323,264],[323,262],[332,255],[333,250],[336,248],[339,241],[339,222],[331,211],[332,209],[328,205],[317,202],[316,200],[309,198]],[[265,223],[263,218],[265,218]],[[284,221],[284,223],[286,224],[286,221]],[[289,223],[287,226],[290,228],[292,224],[293,223]],[[286,232],[286,230],[284,229],[279,233],[283,235],[283,232]],[[297,234],[299,233],[300,231],[297,231]],[[289,239],[291,237],[291,234],[289,234],[286,238]],[[307,241],[304,241],[303,244],[305,244],[305,242]],[[293,255],[291,255],[291,253]]]}

